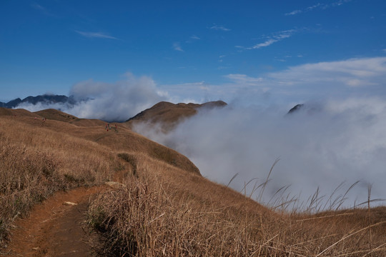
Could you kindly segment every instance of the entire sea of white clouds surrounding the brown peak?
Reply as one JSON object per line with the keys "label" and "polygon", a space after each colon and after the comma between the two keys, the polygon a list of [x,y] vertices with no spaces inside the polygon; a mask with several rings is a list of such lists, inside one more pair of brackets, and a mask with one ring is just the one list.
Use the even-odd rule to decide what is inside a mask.
{"label": "entire sea of white clouds surrounding the brown peak", "polygon": [[[157,86],[148,76],[128,73],[115,83],[74,84],[69,92],[78,100],[74,106],[17,108],[125,121],[159,101],[222,99],[229,105],[199,111],[169,133],[157,124],[134,129],[186,155],[203,176],[225,185],[230,181],[232,188],[271,206],[357,206],[367,201],[369,188],[370,198],[386,198],[386,57],[225,77],[229,83]],[[305,106],[287,115],[295,104]],[[260,186],[268,174],[267,186]]]}

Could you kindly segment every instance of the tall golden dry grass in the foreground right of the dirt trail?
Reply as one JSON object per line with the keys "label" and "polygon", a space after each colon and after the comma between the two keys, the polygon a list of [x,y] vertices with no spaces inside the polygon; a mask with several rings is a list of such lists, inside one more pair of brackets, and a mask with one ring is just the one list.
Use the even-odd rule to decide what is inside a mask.
{"label": "tall golden dry grass in the foreground right of the dirt trail", "polygon": [[[102,193],[89,223],[112,256],[385,256],[385,208],[274,213],[172,166],[137,156],[137,178]],[[370,239],[370,231],[372,237]],[[124,255],[126,254],[126,255]]]}

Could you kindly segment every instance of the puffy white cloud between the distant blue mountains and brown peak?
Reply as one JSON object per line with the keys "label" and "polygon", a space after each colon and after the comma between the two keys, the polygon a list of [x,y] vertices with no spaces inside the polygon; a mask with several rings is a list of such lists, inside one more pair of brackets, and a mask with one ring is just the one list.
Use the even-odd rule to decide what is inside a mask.
{"label": "puffy white cloud between the distant blue mountains and brown peak", "polygon": [[140,111],[168,99],[148,76],[136,77],[127,73],[126,79],[115,83],[81,81],[72,86],[70,95],[77,104],[21,104],[17,108],[29,111],[60,109],[79,118],[104,121],[126,121]]}

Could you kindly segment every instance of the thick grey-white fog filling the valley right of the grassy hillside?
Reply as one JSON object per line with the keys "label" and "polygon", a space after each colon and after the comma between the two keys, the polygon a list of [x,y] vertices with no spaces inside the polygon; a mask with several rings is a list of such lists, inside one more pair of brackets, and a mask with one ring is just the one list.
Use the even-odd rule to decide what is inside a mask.
{"label": "thick grey-white fog filling the valley right of the grassy hillside", "polygon": [[[262,196],[274,206],[295,197],[299,201],[292,207],[303,203],[305,208],[318,187],[320,206],[327,208],[339,207],[333,201],[340,198],[347,198],[345,207],[366,201],[370,184],[372,198],[386,198],[386,101],[348,98],[306,106],[284,115],[288,110],[283,106],[229,105],[203,111],[171,133],[147,124],[135,129],[188,156],[212,181],[227,185],[238,174],[230,186],[244,192],[245,183],[256,178],[247,186],[247,194],[255,183],[264,183],[279,158]],[[356,181],[360,182],[344,196]],[[283,186],[289,188],[275,195]]]}

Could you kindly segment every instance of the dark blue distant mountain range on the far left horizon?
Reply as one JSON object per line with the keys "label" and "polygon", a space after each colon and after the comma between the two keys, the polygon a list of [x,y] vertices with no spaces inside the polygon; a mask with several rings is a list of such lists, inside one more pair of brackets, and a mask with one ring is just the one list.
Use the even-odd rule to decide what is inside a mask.
{"label": "dark blue distant mountain range on the far left horizon", "polygon": [[72,96],[60,96],[60,95],[40,95],[40,96],[27,96],[25,99],[21,100],[19,98],[9,101],[8,103],[0,102],[0,107],[4,108],[15,108],[19,104],[75,104],[76,101]]}

